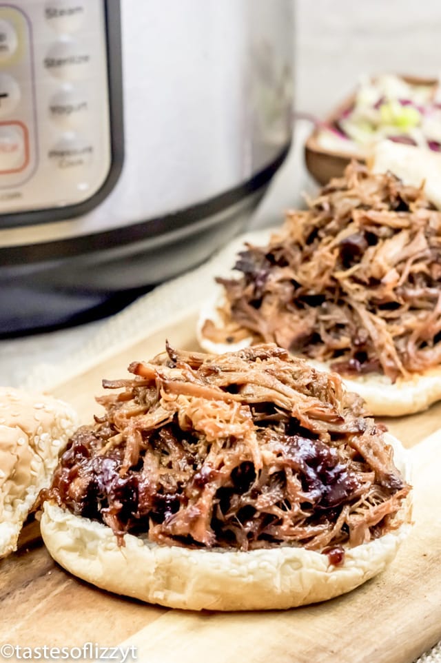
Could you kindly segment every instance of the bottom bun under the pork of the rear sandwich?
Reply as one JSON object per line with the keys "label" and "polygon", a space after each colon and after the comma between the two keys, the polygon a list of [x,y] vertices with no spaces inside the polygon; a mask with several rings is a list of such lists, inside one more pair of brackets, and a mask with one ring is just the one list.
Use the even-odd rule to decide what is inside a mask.
{"label": "bottom bun under the pork of the rear sandwich", "polygon": [[[212,354],[234,352],[252,344],[252,337],[247,336],[238,343],[214,343],[203,334],[205,320],[212,320],[216,327],[223,327],[218,314],[218,307],[224,302],[223,287],[214,284],[212,298],[201,307],[196,324],[196,338],[199,345]],[[311,360],[301,354],[307,363],[320,371],[331,371],[328,363]],[[366,403],[366,408],[374,416],[399,417],[414,414],[427,409],[432,403],[441,400],[441,367],[431,368],[423,373],[415,373],[408,380],[398,378],[392,383],[390,378],[379,373],[365,376],[345,378],[342,376],[349,391],[355,391]]]}

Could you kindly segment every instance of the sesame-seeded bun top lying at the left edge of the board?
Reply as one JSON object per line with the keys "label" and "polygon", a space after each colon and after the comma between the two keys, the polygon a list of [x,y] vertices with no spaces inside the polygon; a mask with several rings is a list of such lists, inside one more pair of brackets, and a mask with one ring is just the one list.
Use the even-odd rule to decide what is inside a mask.
{"label": "sesame-seeded bun top lying at the left edge of the board", "polygon": [[0,558],[17,549],[23,522],[76,425],[66,403],[0,387]]}

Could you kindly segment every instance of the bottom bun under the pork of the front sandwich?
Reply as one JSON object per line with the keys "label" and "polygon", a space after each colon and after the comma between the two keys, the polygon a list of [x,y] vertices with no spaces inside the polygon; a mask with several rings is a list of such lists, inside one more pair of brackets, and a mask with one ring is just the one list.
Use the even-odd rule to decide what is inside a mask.
{"label": "bottom bun under the pork of the front sandwich", "polygon": [[[385,439],[409,480],[407,452],[395,438]],[[398,529],[347,548],[338,566],[325,554],[289,546],[249,552],[188,549],[126,534],[119,547],[110,527],[49,502],[41,533],[54,560],[102,589],[171,608],[265,610],[334,598],[380,573],[409,531],[409,496],[398,518],[403,521]]]}

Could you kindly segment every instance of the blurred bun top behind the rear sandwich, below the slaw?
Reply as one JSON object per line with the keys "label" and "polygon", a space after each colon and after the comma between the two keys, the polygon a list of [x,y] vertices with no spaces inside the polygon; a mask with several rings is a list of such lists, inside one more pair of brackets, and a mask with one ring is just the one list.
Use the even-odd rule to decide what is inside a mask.
{"label": "blurred bun top behind the rear sandwich, below the slaw", "polygon": [[390,171],[404,184],[422,185],[429,201],[441,210],[441,154],[415,145],[380,141],[368,160],[373,173]]}

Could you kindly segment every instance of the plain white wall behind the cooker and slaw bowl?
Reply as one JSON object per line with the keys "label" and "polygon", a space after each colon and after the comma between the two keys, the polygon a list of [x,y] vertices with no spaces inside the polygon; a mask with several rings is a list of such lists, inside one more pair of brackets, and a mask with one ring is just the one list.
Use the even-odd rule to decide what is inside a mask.
{"label": "plain white wall behind the cooker and slaw bowl", "polygon": [[294,2],[297,110],[322,116],[360,73],[441,72],[441,0]]}

